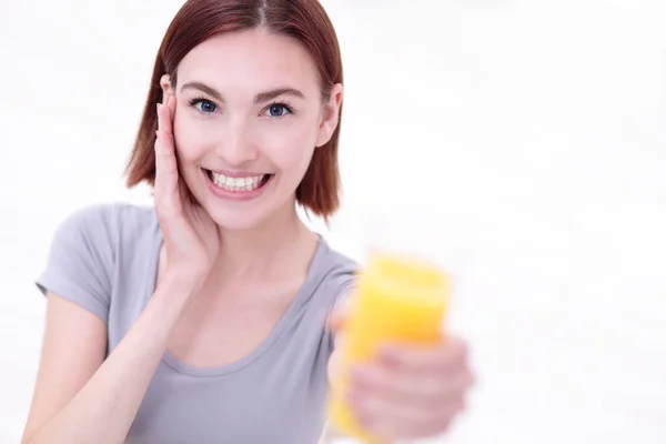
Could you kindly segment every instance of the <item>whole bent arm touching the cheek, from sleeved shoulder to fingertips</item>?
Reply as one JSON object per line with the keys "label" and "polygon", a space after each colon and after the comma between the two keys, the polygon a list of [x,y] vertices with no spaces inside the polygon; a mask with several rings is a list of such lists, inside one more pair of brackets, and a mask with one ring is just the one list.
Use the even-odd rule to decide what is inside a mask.
{"label": "whole bent arm touching the cheek, from sleeved shoulder to fingertips", "polygon": [[[172,121],[175,99],[157,108],[155,212],[163,233],[164,279],[134,325],[104,360],[107,329],[90,311],[48,294],[48,322],[33,405],[22,443],[122,443],[190,297],[199,292],[218,256],[218,225],[188,198],[179,178]],[[61,230],[51,253],[48,282],[69,296],[101,303],[110,291],[94,232],[102,223],[77,218]],[[47,283],[42,285],[49,286]],[[101,314],[103,315],[103,313]],[[83,332],[83,333],[82,333]]]}

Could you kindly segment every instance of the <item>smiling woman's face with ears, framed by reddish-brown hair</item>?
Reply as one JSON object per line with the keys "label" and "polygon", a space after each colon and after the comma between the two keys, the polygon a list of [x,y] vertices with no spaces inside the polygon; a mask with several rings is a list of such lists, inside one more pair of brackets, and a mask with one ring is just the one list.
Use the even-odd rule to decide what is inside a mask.
{"label": "smiling woman's face with ears, framed by reddish-brown hair", "polygon": [[313,151],[336,124],[342,87],[322,101],[310,54],[258,29],[215,36],[178,67],[174,139],[180,172],[221,226],[242,230],[293,211]]}

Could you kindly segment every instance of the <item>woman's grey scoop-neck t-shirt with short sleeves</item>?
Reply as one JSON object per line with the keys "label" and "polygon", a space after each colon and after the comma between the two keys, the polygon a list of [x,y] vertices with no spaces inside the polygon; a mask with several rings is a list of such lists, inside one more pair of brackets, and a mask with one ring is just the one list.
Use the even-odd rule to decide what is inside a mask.
{"label": "woman's grey scoop-neck t-shirt with short sleeves", "polygon": [[[161,242],[153,208],[85,208],[59,226],[37,284],[42,293],[52,291],[102,319],[109,354],[153,294]],[[351,290],[355,270],[354,261],[320,238],[305,283],[250,354],[200,369],[167,352],[127,443],[316,443],[325,422],[333,347],[325,319]]]}

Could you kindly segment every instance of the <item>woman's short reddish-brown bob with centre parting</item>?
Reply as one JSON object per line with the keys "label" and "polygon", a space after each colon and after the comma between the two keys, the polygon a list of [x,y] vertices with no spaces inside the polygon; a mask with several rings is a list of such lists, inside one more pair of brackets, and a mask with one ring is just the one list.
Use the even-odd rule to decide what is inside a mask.
{"label": "woman's short reddish-brown bob with centre parting", "polygon": [[[125,169],[129,188],[143,181],[154,185],[155,104],[162,100],[161,77],[170,74],[175,87],[179,63],[199,43],[218,33],[260,27],[291,37],[307,50],[319,71],[322,100],[330,99],[333,85],[343,80],[342,58],[333,24],[319,0],[189,0],[173,18],[160,46]],[[340,122],[331,140],[314,150],[310,167],[296,188],[296,202],[324,220],[340,205],[339,139]]]}

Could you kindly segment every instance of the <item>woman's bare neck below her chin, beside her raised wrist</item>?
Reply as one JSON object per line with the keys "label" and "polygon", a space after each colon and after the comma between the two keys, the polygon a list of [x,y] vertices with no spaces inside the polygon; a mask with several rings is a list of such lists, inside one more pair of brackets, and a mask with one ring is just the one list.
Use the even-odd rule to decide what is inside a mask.
{"label": "woman's bare neck below her chin, beside her raised wrist", "polygon": [[294,255],[316,243],[316,235],[300,220],[295,206],[285,205],[270,220],[249,230],[219,228],[220,255],[218,275],[234,278],[266,276],[289,273]]}

